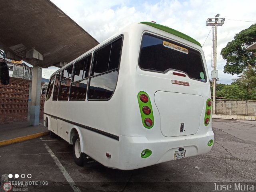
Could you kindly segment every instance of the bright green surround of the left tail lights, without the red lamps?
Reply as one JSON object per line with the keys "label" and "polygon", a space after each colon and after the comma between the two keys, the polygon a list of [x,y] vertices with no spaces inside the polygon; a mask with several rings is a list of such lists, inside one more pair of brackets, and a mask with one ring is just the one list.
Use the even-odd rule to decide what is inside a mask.
{"label": "bright green surround of the left tail lights, without the red lamps", "polygon": [[[152,128],[152,127],[154,126],[154,116],[153,116],[153,109],[152,109],[152,106],[151,106],[150,98],[149,98],[149,96],[148,96],[148,102],[144,103],[144,102],[142,102],[142,101],[140,100],[140,94],[145,94],[146,96],[148,96],[148,94],[147,94],[146,92],[144,92],[144,91],[140,91],[140,92],[138,93],[138,96],[137,96],[137,97],[138,97],[138,102],[139,102],[139,106],[140,106],[140,114],[141,114],[142,124],[143,124],[143,126],[146,127],[147,129],[150,129],[150,128]],[[144,112],[142,111],[142,108],[143,108],[144,106],[148,106],[148,107],[151,109],[151,113],[150,113],[150,114],[148,114],[148,115],[144,114]],[[153,123],[152,123],[151,126],[147,126],[147,125],[145,124],[144,120],[145,120],[146,118],[150,118],[150,119],[152,120]]]}

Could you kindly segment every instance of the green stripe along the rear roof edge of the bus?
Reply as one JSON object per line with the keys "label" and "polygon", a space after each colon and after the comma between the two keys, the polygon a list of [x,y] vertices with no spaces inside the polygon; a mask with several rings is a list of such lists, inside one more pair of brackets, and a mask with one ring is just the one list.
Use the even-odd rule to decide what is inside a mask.
{"label": "green stripe along the rear roof edge of the bus", "polygon": [[169,28],[169,27],[157,24],[157,23],[152,23],[152,22],[140,22],[140,23],[152,26],[154,28],[160,29],[160,30],[165,31],[165,32],[168,32],[170,34],[173,34],[173,35],[178,36],[178,37],[180,37],[182,39],[188,40],[188,41],[190,41],[190,42],[192,42],[194,44],[197,44],[200,47],[202,47],[201,44],[198,41],[196,41],[195,39],[191,38],[190,36],[188,36],[188,35],[186,35],[184,33],[176,31],[176,30],[174,30],[172,28]]}

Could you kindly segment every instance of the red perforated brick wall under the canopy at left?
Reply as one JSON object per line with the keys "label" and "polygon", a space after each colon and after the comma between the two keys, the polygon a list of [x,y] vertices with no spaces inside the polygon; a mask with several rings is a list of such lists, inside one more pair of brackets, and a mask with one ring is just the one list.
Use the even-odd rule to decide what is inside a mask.
{"label": "red perforated brick wall under the canopy at left", "polygon": [[[30,82],[32,81],[10,77],[9,85],[0,84],[0,124],[27,120]],[[41,95],[40,118],[43,117],[44,96]]]}

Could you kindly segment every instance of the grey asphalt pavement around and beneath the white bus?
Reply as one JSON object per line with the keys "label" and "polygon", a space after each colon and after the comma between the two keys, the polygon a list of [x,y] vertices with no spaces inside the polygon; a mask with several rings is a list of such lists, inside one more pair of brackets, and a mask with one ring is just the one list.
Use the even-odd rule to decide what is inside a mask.
{"label": "grey asphalt pavement around and beneath the white bus", "polygon": [[[215,142],[208,154],[131,171],[101,165],[79,167],[72,159],[72,148],[67,142],[57,136],[43,136],[0,147],[0,176],[2,184],[7,180],[30,181],[29,186],[13,185],[28,191],[198,192],[214,190],[214,182],[228,182],[233,191],[234,182],[254,182],[255,191],[255,122],[215,119],[213,131]],[[13,178],[8,178],[8,174]],[[19,174],[19,178],[14,179],[15,174]],[[35,181],[37,185],[33,185]]]}

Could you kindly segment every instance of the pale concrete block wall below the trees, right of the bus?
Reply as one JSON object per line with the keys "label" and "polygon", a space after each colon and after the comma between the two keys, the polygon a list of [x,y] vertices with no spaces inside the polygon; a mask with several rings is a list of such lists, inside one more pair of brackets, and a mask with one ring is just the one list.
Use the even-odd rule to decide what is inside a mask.
{"label": "pale concrete block wall below the trees, right of the bus", "polygon": [[216,114],[256,116],[256,100],[216,100]]}

